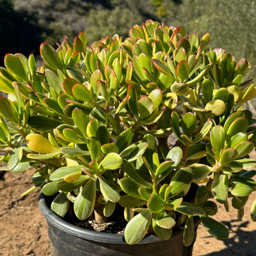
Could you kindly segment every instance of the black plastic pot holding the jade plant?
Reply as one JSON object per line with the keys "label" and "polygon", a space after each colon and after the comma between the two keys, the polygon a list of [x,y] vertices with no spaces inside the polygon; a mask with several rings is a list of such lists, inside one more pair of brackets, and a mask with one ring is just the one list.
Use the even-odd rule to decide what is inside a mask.
{"label": "black plastic pot holding the jade plant", "polygon": [[[52,256],[192,255],[193,244],[186,247],[182,242],[182,228],[173,228],[172,237],[168,241],[148,235],[139,243],[129,245],[125,243],[123,235],[86,230],[68,223],[49,209],[51,202],[47,200],[49,201],[49,198],[40,193],[39,207],[47,219]],[[199,223],[200,219],[195,218],[195,232]]]}

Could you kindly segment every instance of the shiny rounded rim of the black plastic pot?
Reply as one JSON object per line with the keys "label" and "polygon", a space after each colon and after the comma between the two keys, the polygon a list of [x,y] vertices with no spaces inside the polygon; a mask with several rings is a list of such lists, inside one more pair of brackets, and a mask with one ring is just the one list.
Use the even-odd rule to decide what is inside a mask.
{"label": "shiny rounded rim of the black plastic pot", "polygon": [[[51,223],[54,227],[60,228],[61,230],[68,232],[74,236],[81,237],[86,240],[96,241],[100,243],[113,243],[113,244],[127,244],[124,239],[124,235],[122,234],[111,234],[106,232],[97,232],[95,230],[88,230],[86,228],[77,227],[72,223],[68,223],[63,220],[61,217],[57,216],[51,209],[48,207],[46,203],[46,198],[42,191],[40,191],[38,205],[40,207],[40,211],[47,219],[47,223]],[[200,223],[200,218],[195,216],[195,227]],[[183,232],[182,227],[173,228],[172,237],[179,234],[179,232]],[[170,239],[172,239],[172,237]],[[154,234],[146,235],[140,242],[137,244],[148,244],[148,243],[156,243],[164,241],[163,239],[157,237]]]}

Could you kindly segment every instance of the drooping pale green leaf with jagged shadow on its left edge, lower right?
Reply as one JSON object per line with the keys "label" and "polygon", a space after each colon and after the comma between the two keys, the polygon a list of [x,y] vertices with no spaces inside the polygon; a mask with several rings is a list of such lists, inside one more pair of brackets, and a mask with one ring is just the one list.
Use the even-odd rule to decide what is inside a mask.
{"label": "drooping pale green leaf with jagged shadow on its left edge, lower right", "polygon": [[212,182],[211,187],[212,195],[215,200],[223,204],[228,198],[228,187],[225,186],[223,179],[221,179],[219,174],[216,174]]}

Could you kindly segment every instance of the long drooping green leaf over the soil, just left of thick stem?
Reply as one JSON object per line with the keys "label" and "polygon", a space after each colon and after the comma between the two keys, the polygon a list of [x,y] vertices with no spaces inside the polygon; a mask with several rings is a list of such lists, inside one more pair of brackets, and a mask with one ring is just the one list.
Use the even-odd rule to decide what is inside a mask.
{"label": "long drooping green leaf over the soil, just left of thick stem", "polygon": [[76,197],[74,212],[79,220],[88,218],[94,209],[96,198],[96,182],[93,179],[86,182],[84,188]]}

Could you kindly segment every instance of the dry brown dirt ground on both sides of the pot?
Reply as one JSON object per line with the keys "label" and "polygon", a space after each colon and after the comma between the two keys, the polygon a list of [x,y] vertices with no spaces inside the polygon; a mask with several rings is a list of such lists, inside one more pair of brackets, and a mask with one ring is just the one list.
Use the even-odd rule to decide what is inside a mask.
{"label": "dry brown dirt ground on both sides of the pot", "polygon": [[[17,174],[0,172],[1,256],[50,255],[47,223],[37,204],[38,190],[20,198],[20,194],[32,186],[29,179],[32,174],[33,170]],[[250,202],[254,198],[251,196]],[[200,225],[193,256],[256,255],[256,223],[250,221],[250,207],[246,207],[241,222],[236,221],[236,211],[224,209],[214,218],[227,225],[230,237],[217,240]]]}

